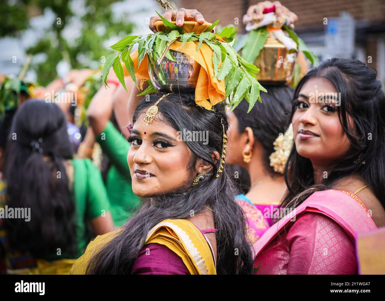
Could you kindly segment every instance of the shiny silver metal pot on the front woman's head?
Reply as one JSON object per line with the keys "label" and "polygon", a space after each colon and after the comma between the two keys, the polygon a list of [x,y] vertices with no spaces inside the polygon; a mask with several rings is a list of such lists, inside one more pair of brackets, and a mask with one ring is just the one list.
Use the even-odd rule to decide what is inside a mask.
{"label": "shiny silver metal pot on the front woman's head", "polygon": [[149,55],[148,70],[150,80],[158,91],[193,90],[198,81],[201,65],[193,57],[183,52],[170,50],[176,61],[164,57],[160,64]]}

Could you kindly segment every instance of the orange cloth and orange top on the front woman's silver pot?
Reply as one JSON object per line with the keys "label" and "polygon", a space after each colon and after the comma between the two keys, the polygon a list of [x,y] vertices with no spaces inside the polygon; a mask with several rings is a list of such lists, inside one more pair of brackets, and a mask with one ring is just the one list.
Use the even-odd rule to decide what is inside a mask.
{"label": "orange cloth and orange top on the front woman's silver pot", "polygon": [[[172,22],[175,24],[175,21]],[[167,29],[162,21],[156,21],[154,26],[158,31]],[[210,23],[199,24],[193,21],[186,21],[183,25],[184,32],[195,32],[197,34],[204,32],[207,28],[211,26]],[[201,69],[198,75],[198,82],[195,88],[195,102],[197,105],[202,106],[208,110],[211,110],[211,107],[217,103],[224,100],[225,85],[224,80],[218,80],[214,76],[214,65],[213,65],[213,50],[206,44],[203,43],[198,52],[196,48],[198,47],[198,41],[189,41],[186,42],[183,47],[181,47],[182,42],[174,41],[170,49],[177,50],[183,53],[186,53],[189,56],[193,56],[195,62],[201,65]],[[144,56],[141,65],[138,68],[138,51],[131,53],[132,61],[134,62],[135,75],[137,78],[149,79],[148,74],[148,58],[147,54]],[[220,66],[220,64],[219,64]],[[127,69],[124,67],[124,76],[129,76]]]}

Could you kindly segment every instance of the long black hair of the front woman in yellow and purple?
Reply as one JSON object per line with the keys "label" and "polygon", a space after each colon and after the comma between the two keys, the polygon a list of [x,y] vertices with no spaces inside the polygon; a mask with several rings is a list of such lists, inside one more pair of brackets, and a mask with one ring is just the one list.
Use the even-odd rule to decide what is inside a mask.
{"label": "long black hair of the front woman in yellow and purple", "polygon": [[[135,113],[133,121],[153,105],[164,93],[151,95],[149,101],[142,100]],[[129,225],[95,254],[87,267],[87,274],[129,274],[139,251],[144,246],[149,230],[165,219],[178,219],[190,216],[191,212],[198,214],[211,206],[217,243],[217,273],[218,274],[250,274],[252,273],[253,258],[250,246],[245,238],[245,221],[241,208],[234,201],[236,190],[229,171],[224,165],[224,171],[219,178],[216,172],[220,160],[214,164],[210,154],[217,151],[222,153],[223,127],[228,129],[226,112],[223,104],[214,106],[215,111],[206,110],[196,105],[193,92],[171,94],[158,103],[161,118],[166,124],[177,131],[208,131],[208,143],[201,141],[186,141],[192,152],[192,157],[186,170],[195,168],[198,158],[207,161],[213,167],[212,176],[189,189],[165,193],[145,202],[132,218]],[[138,122],[143,122],[138,120]],[[193,211],[192,211],[193,210]],[[238,252],[237,252],[238,250]],[[239,255],[235,255],[239,254]]]}

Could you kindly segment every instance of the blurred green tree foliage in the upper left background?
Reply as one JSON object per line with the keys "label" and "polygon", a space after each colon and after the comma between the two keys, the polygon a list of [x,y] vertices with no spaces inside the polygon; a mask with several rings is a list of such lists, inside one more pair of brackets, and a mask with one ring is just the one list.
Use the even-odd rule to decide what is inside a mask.
{"label": "blurred green tree foliage in the upper left background", "polygon": [[[44,62],[35,63],[32,58],[30,68],[35,70],[39,85],[47,85],[57,77],[56,66],[64,60],[71,68],[95,68],[104,63],[113,50],[103,43],[112,37],[129,35],[134,23],[129,16],[120,20],[114,16],[111,4],[117,0],[8,0],[0,5],[0,37],[20,38],[23,30],[30,28],[29,18],[50,9],[54,22],[43,37],[27,49],[33,56],[45,54]],[[79,4],[79,11],[77,5]],[[64,29],[74,18],[80,21],[80,35],[66,40]]]}

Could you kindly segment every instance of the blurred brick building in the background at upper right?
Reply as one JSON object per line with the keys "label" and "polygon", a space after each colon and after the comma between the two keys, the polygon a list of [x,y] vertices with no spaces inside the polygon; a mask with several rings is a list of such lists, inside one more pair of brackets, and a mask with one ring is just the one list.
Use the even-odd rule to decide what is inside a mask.
{"label": "blurred brick building in the background at upper right", "polygon": [[[208,22],[239,24],[248,0],[174,1],[177,7],[196,8]],[[352,57],[375,68],[385,83],[385,1],[384,0],[282,0],[298,15],[295,30],[320,58]]]}

